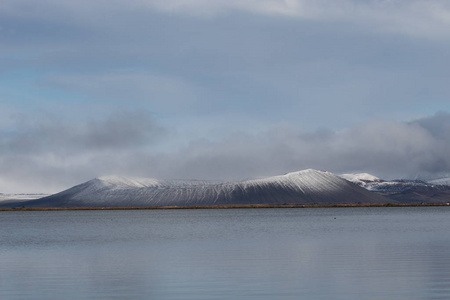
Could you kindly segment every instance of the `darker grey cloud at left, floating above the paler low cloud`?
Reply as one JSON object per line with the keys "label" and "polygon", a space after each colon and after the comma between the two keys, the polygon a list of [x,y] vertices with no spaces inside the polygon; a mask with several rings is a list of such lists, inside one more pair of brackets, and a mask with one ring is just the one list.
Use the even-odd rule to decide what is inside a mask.
{"label": "darker grey cloud at left, floating above the paler low cloud", "polygon": [[70,155],[124,151],[151,144],[163,135],[145,112],[117,112],[103,120],[69,123],[54,115],[20,116],[15,132],[4,134],[0,153]]}

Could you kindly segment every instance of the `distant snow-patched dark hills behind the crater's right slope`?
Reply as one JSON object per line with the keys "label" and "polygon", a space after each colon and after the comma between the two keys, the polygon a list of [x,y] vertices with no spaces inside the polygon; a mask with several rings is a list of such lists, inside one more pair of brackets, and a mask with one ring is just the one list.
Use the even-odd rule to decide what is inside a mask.
{"label": "distant snow-patched dark hills behind the crater's right slope", "polygon": [[398,202],[450,202],[450,186],[446,185],[449,180],[445,178],[426,182],[407,179],[383,180],[367,173],[342,174],[340,176],[371,192]]}

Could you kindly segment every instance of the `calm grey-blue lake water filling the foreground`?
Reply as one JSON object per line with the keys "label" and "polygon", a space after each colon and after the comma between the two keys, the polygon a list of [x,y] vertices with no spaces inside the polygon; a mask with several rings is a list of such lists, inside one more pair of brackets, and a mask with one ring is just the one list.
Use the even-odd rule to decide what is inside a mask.
{"label": "calm grey-blue lake water filling the foreground", "polygon": [[0,212],[0,299],[450,299],[450,208]]}

